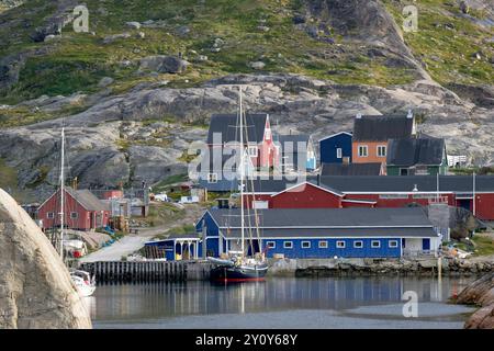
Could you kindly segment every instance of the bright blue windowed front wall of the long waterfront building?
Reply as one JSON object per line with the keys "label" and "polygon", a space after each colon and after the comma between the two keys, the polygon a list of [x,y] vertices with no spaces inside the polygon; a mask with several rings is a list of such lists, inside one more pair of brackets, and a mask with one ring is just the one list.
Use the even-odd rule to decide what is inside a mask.
{"label": "bright blue windowed front wall of the long waterfront building", "polygon": [[[327,248],[319,248],[318,242],[327,241]],[[380,248],[372,248],[371,241],[379,240]],[[389,241],[397,240],[396,248],[390,248]],[[272,258],[274,253],[282,253],[287,258],[333,258],[335,256],[343,258],[397,258],[401,254],[401,239],[400,238],[356,238],[356,239],[263,239],[263,245],[267,246],[268,241],[274,241],[276,248],[268,249],[268,257]],[[293,248],[285,249],[283,247],[284,241],[292,241]],[[310,241],[310,248],[302,248],[302,241]],[[344,241],[345,248],[337,248],[336,241]],[[362,248],[355,248],[355,241],[362,241]]]}

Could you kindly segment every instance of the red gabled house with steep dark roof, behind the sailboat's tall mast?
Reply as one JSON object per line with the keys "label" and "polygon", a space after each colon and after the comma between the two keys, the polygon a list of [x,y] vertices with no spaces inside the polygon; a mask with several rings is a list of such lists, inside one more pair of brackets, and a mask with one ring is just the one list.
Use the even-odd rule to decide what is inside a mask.
{"label": "red gabled house with steep dark roof, behind the sailboat's tall mast", "polygon": [[[258,169],[279,167],[279,147],[273,143],[269,114],[246,114],[244,146],[252,165]],[[222,150],[226,143],[239,143],[239,118],[237,114],[214,114],[211,116],[207,145]]]}

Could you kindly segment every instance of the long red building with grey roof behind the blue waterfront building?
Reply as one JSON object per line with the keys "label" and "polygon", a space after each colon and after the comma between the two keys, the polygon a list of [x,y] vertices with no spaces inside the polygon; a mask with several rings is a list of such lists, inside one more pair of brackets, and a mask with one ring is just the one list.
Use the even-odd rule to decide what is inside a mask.
{"label": "long red building with grey roof behind the blue waterfront building", "polygon": [[[441,202],[494,220],[494,177],[321,177],[299,184],[284,180],[256,181],[245,194],[252,208],[347,208],[427,206]],[[254,203],[252,203],[254,202]]]}

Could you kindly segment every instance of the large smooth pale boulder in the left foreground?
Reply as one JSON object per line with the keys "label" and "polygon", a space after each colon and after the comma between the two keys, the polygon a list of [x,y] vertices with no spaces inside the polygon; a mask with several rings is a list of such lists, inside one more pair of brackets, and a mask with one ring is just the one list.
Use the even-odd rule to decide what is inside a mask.
{"label": "large smooth pale boulder in the left foreground", "polygon": [[0,189],[0,329],[8,328],[91,328],[91,320],[46,236]]}

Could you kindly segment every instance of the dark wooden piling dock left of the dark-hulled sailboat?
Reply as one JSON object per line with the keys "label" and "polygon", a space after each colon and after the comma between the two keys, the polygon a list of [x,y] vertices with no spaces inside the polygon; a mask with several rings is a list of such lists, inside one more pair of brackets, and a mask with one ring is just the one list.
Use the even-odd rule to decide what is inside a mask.
{"label": "dark wooden piling dock left of the dark-hulled sailboat", "polygon": [[184,282],[210,279],[206,261],[110,261],[81,263],[98,283]]}

